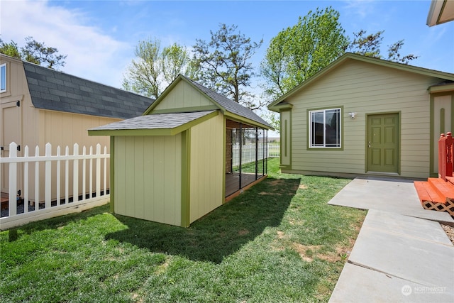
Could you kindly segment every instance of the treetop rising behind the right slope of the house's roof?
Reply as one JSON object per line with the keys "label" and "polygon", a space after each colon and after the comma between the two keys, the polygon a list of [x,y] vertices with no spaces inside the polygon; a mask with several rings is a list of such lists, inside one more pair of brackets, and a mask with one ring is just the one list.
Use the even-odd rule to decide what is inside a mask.
{"label": "treetop rising behind the right slope of the house's roof", "polygon": [[365,30],[360,30],[358,33],[353,33],[353,41],[348,45],[348,51],[369,57],[377,57],[389,61],[408,64],[409,61],[418,58],[418,56],[409,54],[402,56],[399,52],[404,45],[404,40],[399,40],[392,45],[388,45],[388,57],[385,58],[381,55],[381,46],[383,42],[382,33],[384,31],[377,31],[377,33],[367,35]]}

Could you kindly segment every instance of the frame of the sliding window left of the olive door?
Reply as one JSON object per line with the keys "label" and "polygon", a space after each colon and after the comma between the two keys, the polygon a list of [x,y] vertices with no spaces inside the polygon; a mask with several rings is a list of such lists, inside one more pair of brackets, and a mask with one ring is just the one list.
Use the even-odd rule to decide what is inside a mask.
{"label": "frame of the sliding window left of the olive door", "polygon": [[[326,112],[338,111],[338,144],[337,146],[326,146]],[[313,123],[312,118],[314,113],[323,114],[323,145],[313,145]],[[307,148],[308,150],[343,150],[343,106],[333,106],[322,109],[308,109],[307,110]]]}

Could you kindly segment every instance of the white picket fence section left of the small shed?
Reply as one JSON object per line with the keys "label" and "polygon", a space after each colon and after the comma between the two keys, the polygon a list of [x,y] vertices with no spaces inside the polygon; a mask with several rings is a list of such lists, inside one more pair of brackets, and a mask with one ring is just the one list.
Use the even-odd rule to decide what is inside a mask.
{"label": "white picket fence section left of the small shed", "polygon": [[[93,153],[93,148],[90,147],[87,154],[86,148],[83,147],[82,154],[79,154],[79,145],[76,143],[72,155],[69,154],[69,150],[66,147],[65,155],[61,155],[58,146],[57,155],[52,155],[52,145],[48,143],[45,145],[44,156],[40,156],[38,146],[35,148],[35,155],[30,156],[26,146],[23,157],[18,157],[17,144],[9,145],[9,157],[0,157],[0,184],[2,175],[7,177],[9,183],[8,214],[3,214],[6,205],[2,204],[1,230],[31,221],[83,211],[109,202],[107,159],[110,155],[107,154],[107,148],[104,147],[104,153],[101,153],[101,145],[98,144],[96,153]],[[82,172],[79,171],[81,167]],[[40,172],[40,169],[44,171]],[[5,170],[9,172],[5,173]],[[40,177],[43,174],[44,177]],[[19,180],[20,175],[23,175],[23,180],[22,178]],[[29,184],[33,177],[33,184]],[[16,196],[18,182],[21,182],[23,187],[21,197]],[[41,194],[44,200],[40,199],[40,188],[44,188],[44,195]],[[18,205],[22,201],[23,210],[18,211]]]}

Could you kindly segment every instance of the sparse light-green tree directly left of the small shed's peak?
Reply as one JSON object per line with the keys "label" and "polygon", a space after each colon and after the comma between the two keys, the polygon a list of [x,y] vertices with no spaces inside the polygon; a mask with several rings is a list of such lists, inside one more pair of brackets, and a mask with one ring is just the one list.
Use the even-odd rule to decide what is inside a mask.
{"label": "sparse light-green tree directly left of the small shed's peak", "polygon": [[189,52],[177,43],[161,50],[160,40],[141,40],[134,55],[123,77],[123,89],[147,97],[159,97],[179,74],[189,72]]}

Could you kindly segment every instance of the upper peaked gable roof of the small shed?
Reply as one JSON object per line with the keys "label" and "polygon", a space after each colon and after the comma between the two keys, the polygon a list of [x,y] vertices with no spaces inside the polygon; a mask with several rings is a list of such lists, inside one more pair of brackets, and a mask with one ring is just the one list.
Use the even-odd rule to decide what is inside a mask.
{"label": "upper peaked gable roof of the small shed", "polygon": [[195,89],[199,90],[202,94],[205,94],[209,100],[211,100],[226,116],[230,116],[232,119],[243,120],[245,123],[251,123],[254,126],[262,126],[268,129],[273,129],[272,126],[267,123],[267,121],[263,120],[258,114],[255,114],[253,111],[248,109],[247,107],[238,104],[238,102],[228,99],[217,92],[212,91],[209,88],[204,87],[203,85],[185,77],[183,75],[179,75],[172,84],[165,89],[164,92],[160,95],[156,101],[150,105],[150,107],[145,111],[144,115],[146,114],[153,114],[153,108],[159,104],[159,102],[165,98],[165,96],[172,90],[175,85],[177,85],[180,81],[186,81],[192,85]]}

